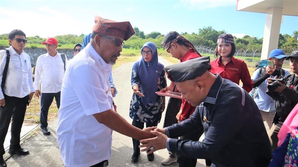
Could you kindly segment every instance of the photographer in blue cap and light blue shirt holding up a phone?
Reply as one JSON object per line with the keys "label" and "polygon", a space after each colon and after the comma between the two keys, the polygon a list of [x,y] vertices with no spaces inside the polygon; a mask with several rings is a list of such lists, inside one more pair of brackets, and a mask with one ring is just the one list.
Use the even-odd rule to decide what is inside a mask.
{"label": "photographer in blue cap and light blue shirt holding up a phone", "polygon": [[[287,56],[280,49],[274,49],[270,52],[269,60],[273,61],[273,67],[271,65],[261,67],[254,71],[252,74],[252,81],[254,82],[254,102],[256,102],[263,121],[266,121],[269,129],[272,127],[272,120],[275,115],[275,101],[266,94],[267,90],[267,78],[279,77],[280,75],[290,75],[288,71],[283,70],[283,61]],[[265,122],[264,122],[265,124]],[[268,131],[267,131],[268,133]]]}

